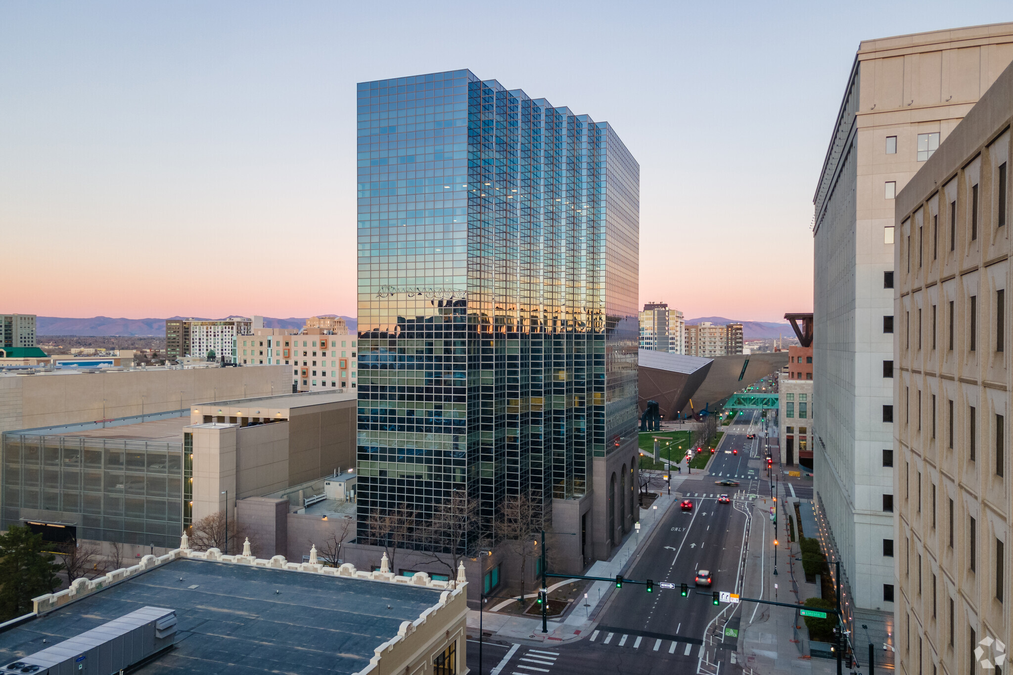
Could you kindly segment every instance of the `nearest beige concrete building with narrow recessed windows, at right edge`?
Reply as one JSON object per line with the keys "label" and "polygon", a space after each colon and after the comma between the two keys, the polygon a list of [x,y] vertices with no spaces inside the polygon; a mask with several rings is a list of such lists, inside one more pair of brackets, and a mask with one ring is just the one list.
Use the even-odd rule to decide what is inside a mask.
{"label": "nearest beige concrete building with narrow recessed windows, at right edge", "polygon": [[1013,644],[1011,123],[1008,66],[894,203],[889,545],[907,673],[986,672]]}

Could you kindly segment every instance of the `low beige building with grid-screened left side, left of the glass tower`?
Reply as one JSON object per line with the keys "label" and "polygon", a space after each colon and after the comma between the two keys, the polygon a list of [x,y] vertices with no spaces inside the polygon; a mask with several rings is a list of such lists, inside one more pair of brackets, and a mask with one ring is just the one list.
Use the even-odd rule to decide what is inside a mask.
{"label": "low beige building with grid-screened left side, left of the glass tower", "polygon": [[237,499],[353,466],[356,405],[352,394],[290,394],[5,432],[0,524],[170,547],[205,516],[234,517]]}

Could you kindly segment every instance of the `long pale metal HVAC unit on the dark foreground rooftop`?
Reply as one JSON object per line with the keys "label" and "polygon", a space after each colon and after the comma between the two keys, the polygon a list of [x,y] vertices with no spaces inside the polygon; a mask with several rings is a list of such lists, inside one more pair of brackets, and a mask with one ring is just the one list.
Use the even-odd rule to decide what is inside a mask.
{"label": "long pale metal HVAC unit on the dark foreground rooftop", "polygon": [[59,645],[12,661],[0,667],[0,673],[107,675],[171,647],[175,636],[174,609],[142,607]]}

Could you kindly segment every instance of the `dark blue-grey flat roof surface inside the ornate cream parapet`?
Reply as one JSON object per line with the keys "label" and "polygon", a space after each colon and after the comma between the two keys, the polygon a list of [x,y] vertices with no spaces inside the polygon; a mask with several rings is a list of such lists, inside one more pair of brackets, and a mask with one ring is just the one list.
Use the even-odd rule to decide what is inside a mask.
{"label": "dark blue-grey flat roof surface inside the ornate cream parapet", "polygon": [[157,605],[175,609],[176,644],[137,673],[350,674],[369,665],[373,650],[395,637],[401,621],[437,604],[440,593],[180,559],[0,632],[0,662]]}

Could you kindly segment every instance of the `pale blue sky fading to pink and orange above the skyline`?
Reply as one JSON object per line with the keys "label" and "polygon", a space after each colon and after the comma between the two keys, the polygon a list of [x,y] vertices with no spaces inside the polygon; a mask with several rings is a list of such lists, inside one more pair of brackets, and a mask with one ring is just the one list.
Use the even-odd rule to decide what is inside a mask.
{"label": "pale blue sky fading to pink and orange above the skyline", "polygon": [[0,3],[0,310],[356,315],[356,83],[470,68],[640,163],[640,302],[812,307],[858,43],[1004,2]]}

